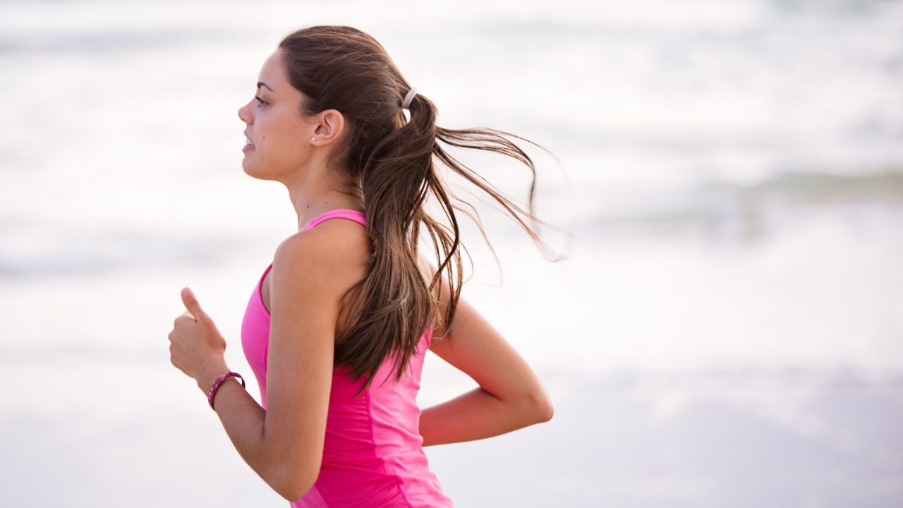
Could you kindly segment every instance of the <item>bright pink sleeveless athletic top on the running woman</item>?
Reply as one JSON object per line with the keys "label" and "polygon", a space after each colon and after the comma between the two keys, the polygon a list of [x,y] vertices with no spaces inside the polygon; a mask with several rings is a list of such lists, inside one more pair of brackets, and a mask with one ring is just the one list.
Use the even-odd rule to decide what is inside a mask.
{"label": "bright pink sleeveless athletic top on the running woman", "polygon": [[[328,219],[349,219],[367,225],[355,210],[330,210],[302,230]],[[241,346],[260,386],[266,409],[266,353],[270,314],[261,285],[273,263],[257,281],[241,325]],[[292,508],[450,507],[439,480],[430,471],[420,436],[420,408],[416,404],[424,354],[432,340],[427,329],[411,357],[410,368],[395,381],[391,359],[383,362],[367,390],[355,394],[365,378],[351,381],[349,368],[333,368],[329,414],[320,475],[313,487]]]}

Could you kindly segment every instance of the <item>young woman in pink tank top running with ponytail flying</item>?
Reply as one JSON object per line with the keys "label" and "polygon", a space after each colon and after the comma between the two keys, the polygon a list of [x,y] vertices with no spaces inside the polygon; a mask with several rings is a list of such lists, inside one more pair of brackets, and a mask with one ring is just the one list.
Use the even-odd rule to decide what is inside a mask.
{"label": "young woman in pink tank top running with ponytail flying", "polygon": [[[548,421],[553,409],[523,358],[461,298],[455,211],[464,211],[433,156],[541,244],[520,217],[538,221],[532,213],[437,141],[533,163],[498,136],[508,133],[436,126],[433,102],[376,40],[348,26],[287,35],[256,85],[238,109],[242,167],[285,185],[299,229],[275,249],[242,324],[261,404],[229,371],[226,342],[188,288],[187,312],[169,334],[172,364],[208,394],[238,453],[292,506],[452,506],[423,447],[498,436]],[[424,210],[431,193],[451,226]],[[531,189],[531,211],[532,200]],[[424,230],[435,264],[418,249]],[[421,411],[414,397],[427,349],[479,388]]]}

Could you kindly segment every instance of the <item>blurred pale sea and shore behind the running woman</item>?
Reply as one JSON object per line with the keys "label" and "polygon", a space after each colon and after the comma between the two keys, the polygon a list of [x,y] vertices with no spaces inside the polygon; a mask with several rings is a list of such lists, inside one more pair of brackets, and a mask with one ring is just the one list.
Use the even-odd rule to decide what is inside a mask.
{"label": "blurred pale sea and shore behind the running woman", "polygon": [[[0,2],[5,506],[287,504],[166,335],[189,286],[259,401],[241,317],[296,216],[237,108],[312,24],[375,36],[442,127],[554,154],[521,143],[567,259],[478,195],[499,264],[469,228],[463,294],[555,417],[426,448],[457,505],[903,505],[903,2],[28,0]],[[452,153],[526,202],[525,166]],[[431,354],[418,401],[473,386]]]}

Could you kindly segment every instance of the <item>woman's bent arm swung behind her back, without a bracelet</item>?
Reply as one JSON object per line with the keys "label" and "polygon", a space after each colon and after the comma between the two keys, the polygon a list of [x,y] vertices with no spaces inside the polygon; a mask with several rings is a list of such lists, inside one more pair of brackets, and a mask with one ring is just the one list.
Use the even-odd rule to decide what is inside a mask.
{"label": "woman's bent arm swung behind her back, without a bracelet", "polygon": [[[440,301],[442,312],[447,305]],[[430,351],[467,373],[479,388],[421,412],[424,447],[498,436],[552,419],[552,402],[533,370],[464,298],[458,300],[448,334],[433,340]]]}

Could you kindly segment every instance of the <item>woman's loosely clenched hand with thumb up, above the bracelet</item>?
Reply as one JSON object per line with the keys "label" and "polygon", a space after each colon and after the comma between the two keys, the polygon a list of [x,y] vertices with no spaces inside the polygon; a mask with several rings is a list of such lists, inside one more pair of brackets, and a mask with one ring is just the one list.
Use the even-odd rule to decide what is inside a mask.
{"label": "woman's loosely clenched hand with thumb up, above the bracelet", "polygon": [[[191,289],[182,289],[182,303],[188,309],[175,318],[170,339],[170,362],[199,382],[215,372],[214,377],[228,372],[223,354],[226,340],[219,334],[209,315],[200,308]],[[206,390],[205,387],[200,387]]]}

